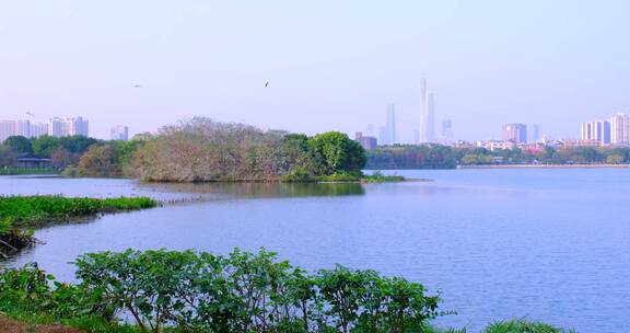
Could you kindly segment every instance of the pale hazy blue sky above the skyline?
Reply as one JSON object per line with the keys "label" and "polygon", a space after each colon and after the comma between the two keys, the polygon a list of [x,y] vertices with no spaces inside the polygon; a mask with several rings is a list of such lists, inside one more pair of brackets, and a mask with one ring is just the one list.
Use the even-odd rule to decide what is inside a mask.
{"label": "pale hazy blue sky above the skyline", "polygon": [[[576,138],[630,113],[630,1],[0,0],[0,118],[83,116],[107,138],[206,116],[316,134],[420,122]],[[269,87],[265,83],[269,82]],[[140,84],[140,88],[135,88]]]}

